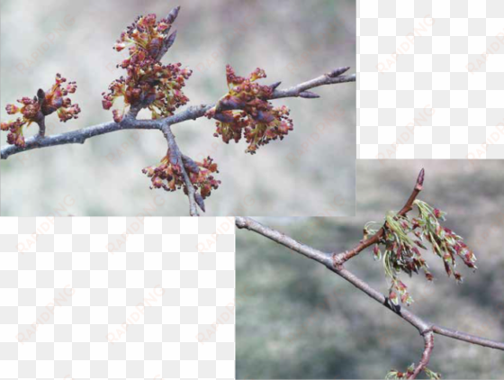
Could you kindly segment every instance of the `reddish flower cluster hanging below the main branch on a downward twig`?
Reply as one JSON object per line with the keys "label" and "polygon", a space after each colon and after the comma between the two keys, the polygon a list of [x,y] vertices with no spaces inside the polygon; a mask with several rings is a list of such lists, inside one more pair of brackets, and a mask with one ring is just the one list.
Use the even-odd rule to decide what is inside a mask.
{"label": "reddish flower cluster hanging below the main branch on a downward twig", "polygon": [[[159,166],[146,167],[142,172],[151,178],[151,189],[163,188],[166,191],[175,191],[184,188],[184,193],[187,194],[181,164],[173,164],[170,157],[170,151],[168,150]],[[212,158],[204,158],[203,162],[195,162],[184,156],[183,165],[194,188],[200,191],[199,195],[201,195],[202,199],[210,196],[211,190],[217,190],[220,181],[216,180],[213,174],[219,173],[219,171]]]}

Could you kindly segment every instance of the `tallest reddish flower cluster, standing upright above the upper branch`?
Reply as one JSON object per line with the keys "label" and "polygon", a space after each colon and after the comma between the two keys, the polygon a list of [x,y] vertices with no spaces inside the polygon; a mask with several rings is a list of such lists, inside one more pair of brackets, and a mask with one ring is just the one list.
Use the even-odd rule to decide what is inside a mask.
{"label": "tallest reddish flower cluster, standing upright above the upper branch", "polygon": [[170,116],[175,109],[187,104],[189,99],[182,92],[185,80],[191,77],[192,70],[181,68],[182,64],[163,65],[159,59],[175,41],[175,32],[170,36],[172,23],[178,14],[175,8],[165,19],[156,21],[156,14],[140,16],[117,41],[114,50],[130,48],[130,57],[118,67],[127,71],[126,77],[120,77],[109,86],[109,92],[103,93],[103,108],[110,110],[119,97],[124,99],[122,111],[113,110],[113,120],[121,122],[130,106],[148,108],[152,118]]}

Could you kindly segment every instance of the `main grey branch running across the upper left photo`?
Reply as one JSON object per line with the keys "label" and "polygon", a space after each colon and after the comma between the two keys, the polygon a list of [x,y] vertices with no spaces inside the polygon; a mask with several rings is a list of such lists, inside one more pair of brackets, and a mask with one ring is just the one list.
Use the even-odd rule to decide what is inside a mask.
{"label": "main grey branch running across the upper left photo", "polygon": [[[356,75],[344,77],[331,77],[338,74],[341,70],[347,71],[347,68],[338,68],[331,73],[311,79],[307,82],[301,83],[297,86],[287,88],[285,90],[275,90],[271,99],[280,99],[284,97],[303,97],[302,93],[307,90],[320,86],[335,85],[338,83],[355,82]],[[343,71],[343,72],[345,72]],[[307,97],[307,96],[304,96]],[[158,120],[136,120],[136,113],[139,110],[130,110],[130,117],[125,117],[122,122],[103,122],[101,124],[86,127],[77,131],[69,131],[52,136],[38,138],[31,137],[25,141],[25,147],[20,148],[14,145],[7,145],[1,149],[1,158],[7,159],[14,154],[21,153],[31,149],[48,148],[57,145],[65,144],[84,144],[85,140],[94,136],[100,136],[106,133],[123,130],[162,130],[163,125],[174,125],[179,122],[186,122],[189,120],[196,120],[204,116],[204,114],[213,108],[215,104],[202,104],[190,106],[180,113],[175,113],[164,119]]]}

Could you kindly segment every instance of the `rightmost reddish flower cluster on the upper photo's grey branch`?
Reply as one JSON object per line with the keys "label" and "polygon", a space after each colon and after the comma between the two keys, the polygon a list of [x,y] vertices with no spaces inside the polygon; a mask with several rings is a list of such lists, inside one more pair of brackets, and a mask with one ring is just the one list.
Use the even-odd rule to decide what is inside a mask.
{"label": "rightmost reddish flower cluster on the upper photo's grey branch", "polygon": [[[233,68],[226,67],[229,93],[220,99],[206,116],[217,120],[215,137],[222,137],[225,143],[238,142],[242,136],[248,143],[247,153],[271,140],[280,139],[293,131],[293,121],[286,106],[274,107],[268,102],[274,86],[261,86],[257,79],[266,77],[263,69],[257,68],[249,77],[238,77]],[[276,85],[278,86],[278,85]]]}

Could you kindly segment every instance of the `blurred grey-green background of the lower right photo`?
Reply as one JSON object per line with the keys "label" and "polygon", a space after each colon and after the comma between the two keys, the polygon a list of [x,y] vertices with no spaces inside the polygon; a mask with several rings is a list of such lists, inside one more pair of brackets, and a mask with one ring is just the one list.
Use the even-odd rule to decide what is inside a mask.
{"label": "blurred grey-green background of the lower right photo", "polygon": [[[502,161],[357,160],[353,218],[260,218],[296,240],[341,252],[362,239],[365,222],[398,211],[425,167],[419,199],[447,212],[446,227],[478,257],[464,284],[448,278],[441,261],[424,257],[435,276],[403,276],[415,303],[409,309],[443,327],[504,341],[504,169]],[[371,249],[347,268],[382,293],[383,265]],[[237,379],[376,379],[418,363],[416,329],[319,263],[250,231],[237,231]],[[446,379],[498,379],[500,350],[440,335],[428,366]],[[426,378],[422,375],[421,378]]]}

